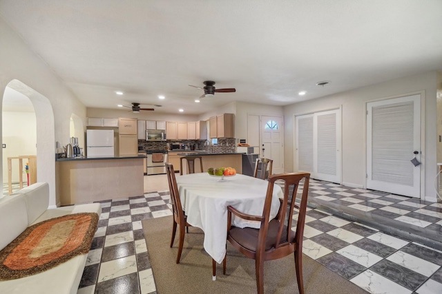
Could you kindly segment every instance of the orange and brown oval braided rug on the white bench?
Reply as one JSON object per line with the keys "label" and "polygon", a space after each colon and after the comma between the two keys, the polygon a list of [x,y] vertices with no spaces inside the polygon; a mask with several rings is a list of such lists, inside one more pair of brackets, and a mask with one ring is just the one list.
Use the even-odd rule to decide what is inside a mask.
{"label": "orange and brown oval braided rug on the white bench", "polygon": [[0,280],[34,275],[88,253],[97,213],[75,213],[28,227],[0,251]]}

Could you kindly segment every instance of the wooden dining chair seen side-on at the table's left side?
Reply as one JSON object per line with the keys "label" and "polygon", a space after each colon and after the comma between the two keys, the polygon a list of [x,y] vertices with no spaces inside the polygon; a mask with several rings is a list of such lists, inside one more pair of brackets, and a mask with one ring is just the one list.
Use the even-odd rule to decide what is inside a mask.
{"label": "wooden dining chair seen side-on at the table's left side", "polygon": [[171,163],[166,162],[166,174],[167,180],[169,180],[169,189],[171,190],[171,201],[172,201],[172,209],[173,209],[173,226],[172,226],[172,238],[171,238],[171,247],[173,246],[173,241],[175,240],[175,233],[177,231],[177,226],[180,231],[180,240],[178,243],[178,253],[177,253],[177,264],[180,263],[182,246],[184,244],[184,228],[187,229],[187,233],[189,233],[189,227],[192,227],[189,223],[187,223],[186,213],[182,210],[180,192],[178,191],[177,180],[175,178],[175,171],[173,170],[173,165]]}

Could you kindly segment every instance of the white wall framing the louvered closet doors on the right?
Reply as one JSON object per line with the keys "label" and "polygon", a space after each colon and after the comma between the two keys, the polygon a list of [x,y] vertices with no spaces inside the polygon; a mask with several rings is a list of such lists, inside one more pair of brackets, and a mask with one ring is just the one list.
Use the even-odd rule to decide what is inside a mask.
{"label": "white wall framing the louvered closet doors on the right", "polygon": [[[308,114],[342,105],[342,155],[343,184],[365,187],[365,106],[368,101],[405,96],[424,91],[425,113],[423,119],[422,158],[425,200],[436,201],[434,176],[436,176],[436,84],[437,72],[407,76],[357,90],[334,94],[312,101],[304,101],[285,107],[285,168],[294,171],[294,115]],[[330,85],[332,87],[332,84]]]}

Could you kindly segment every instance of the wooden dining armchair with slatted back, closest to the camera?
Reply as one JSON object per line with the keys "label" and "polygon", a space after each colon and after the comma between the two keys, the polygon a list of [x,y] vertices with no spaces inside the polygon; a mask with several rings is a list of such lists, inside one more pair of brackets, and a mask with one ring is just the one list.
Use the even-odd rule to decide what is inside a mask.
{"label": "wooden dining armchair with slatted back, closest to the camera", "polygon": [[[296,280],[299,293],[304,293],[302,282],[302,238],[304,235],[305,211],[307,207],[307,194],[309,190],[310,174],[278,174],[269,176],[267,195],[265,198],[262,216],[251,216],[242,213],[229,206],[227,220],[227,240],[244,254],[247,258],[255,260],[256,287],[258,294],[264,293],[264,262],[276,260],[294,253]],[[285,183],[284,198],[280,199],[281,205],[278,215],[273,220],[269,219],[271,198],[275,181]],[[299,183],[303,180],[302,193],[297,193]],[[291,230],[294,208],[298,209],[298,221],[296,231]],[[232,213],[245,220],[258,220],[261,222],[260,229],[239,228],[231,225]],[[225,272],[225,258],[223,271]]]}

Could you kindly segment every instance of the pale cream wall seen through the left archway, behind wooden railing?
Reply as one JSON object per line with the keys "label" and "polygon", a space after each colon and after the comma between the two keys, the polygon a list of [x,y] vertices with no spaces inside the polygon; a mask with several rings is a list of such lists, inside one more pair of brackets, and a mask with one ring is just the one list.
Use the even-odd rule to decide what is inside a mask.
{"label": "pale cream wall seen through the left archway, behind wooden railing", "polygon": [[[3,183],[8,182],[8,157],[37,155],[37,125],[35,112],[3,112]],[[19,160],[12,161],[12,182],[19,182]],[[26,159],[23,160],[23,170]],[[23,174],[26,182],[26,175]]]}

